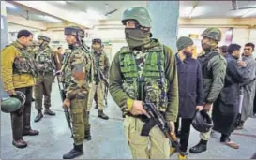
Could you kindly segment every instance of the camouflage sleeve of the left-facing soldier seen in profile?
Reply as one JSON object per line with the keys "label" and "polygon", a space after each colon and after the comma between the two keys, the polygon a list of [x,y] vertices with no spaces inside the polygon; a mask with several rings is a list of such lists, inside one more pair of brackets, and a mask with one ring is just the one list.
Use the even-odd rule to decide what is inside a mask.
{"label": "camouflage sleeve of the left-facing soldier seen in profile", "polygon": [[88,64],[87,59],[83,55],[82,51],[72,53],[70,57],[71,82],[66,93],[66,97],[68,99],[73,99],[76,96],[84,97],[87,94],[87,90],[85,88],[86,64]]}

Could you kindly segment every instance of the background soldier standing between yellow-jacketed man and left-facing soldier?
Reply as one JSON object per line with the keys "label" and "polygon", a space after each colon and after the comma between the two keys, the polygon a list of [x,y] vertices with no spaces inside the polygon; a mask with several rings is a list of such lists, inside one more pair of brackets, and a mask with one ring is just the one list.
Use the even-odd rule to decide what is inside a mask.
{"label": "background soldier standing between yellow-jacketed man and left-facing soldier", "polygon": [[35,108],[38,110],[38,115],[35,122],[38,122],[43,117],[42,114],[42,99],[44,97],[44,114],[53,116],[55,113],[50,109],[51,107],[51,92],[53,83],[53,72],[55,67],[60,70],[61,60],[56,52],[49,47],[50,38],[47,36],[38,36],[39,48],[33,51],[35,60],[38,65],[38,78],[34,88],[35,93]]}

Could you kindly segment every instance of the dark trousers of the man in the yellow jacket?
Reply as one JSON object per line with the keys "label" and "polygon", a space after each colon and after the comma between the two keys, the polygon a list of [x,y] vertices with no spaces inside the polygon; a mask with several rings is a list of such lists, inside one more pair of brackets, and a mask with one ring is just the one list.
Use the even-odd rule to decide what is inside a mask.
{"label": "dark trousers of the man in the yellow jacket", "polygon": [[31,129],[30,114],[32,101],[32,87],[16,88],[15,91],[21,91],[26,96],[25,103],[21,109],[10,113],[12,138],[19,140],[23,138],[23,132]]}

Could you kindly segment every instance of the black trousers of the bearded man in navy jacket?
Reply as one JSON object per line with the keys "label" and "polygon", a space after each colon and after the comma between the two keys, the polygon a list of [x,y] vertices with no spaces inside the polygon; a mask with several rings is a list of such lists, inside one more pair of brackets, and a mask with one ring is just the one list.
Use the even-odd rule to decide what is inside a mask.
{"label": "black trousers of the bearded man in navy jacket", "polygon": [[[188,140],[190,134],[190,125],[193,119],[181,118],[181,130],[180,130],[180,150],[184,153],[188,150]],[[179,117],[175,123],[175,133],[177,134],[179,128]]]}

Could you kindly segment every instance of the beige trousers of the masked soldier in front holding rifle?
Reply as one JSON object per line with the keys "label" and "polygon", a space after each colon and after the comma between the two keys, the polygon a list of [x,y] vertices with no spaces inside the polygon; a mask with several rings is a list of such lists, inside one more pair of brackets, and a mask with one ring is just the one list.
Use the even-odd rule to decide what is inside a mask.
{"label": "beige trousers of the masked soldier in front holding rifle", "polygon": [[125,135],[132,157],[134,159],[169,159],[169,139],[165,138],[157,125],[150,130],[148,137],[141,136],[143,124],[140,119],[134,117],[126,116],[124,120]]}

